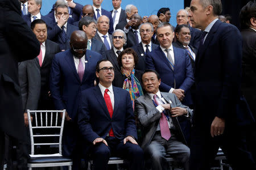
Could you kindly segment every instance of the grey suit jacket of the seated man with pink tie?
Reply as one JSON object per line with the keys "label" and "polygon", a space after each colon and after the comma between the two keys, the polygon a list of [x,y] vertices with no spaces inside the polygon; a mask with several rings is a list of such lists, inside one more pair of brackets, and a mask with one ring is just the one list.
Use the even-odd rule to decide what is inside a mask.
{"label": "grey suit jacket of the seated man with pink tie", "polygon": [[[181,107],[187,109],[189,114],[192,114],[191,109],[189,107],[183,105],[180,103],[180,101],[177,99],[176,95],[161,92],[162,97],[164,100],[167,101],[171,105],[171,108],[174,107]],[[161,114],[159,113],[158,109],[156,109],[153,101],[151,100],[150,96],[148,94],[145,94],[143,96],[138,97],[135,100],[135,114],[138,115],[139,121],[141,122],[141,125],[143,127],[143,137],[142,137],[142,149],[144,151],[147,150],[148,145],[150,145],[150,142],[152,140],[152,137],[155,134],[156,128],[159,124]],[[170,115],[171,113],[168,112]],[[177,139],[181,142],[183,142],[185,145],[187,145],[187,142],[185,141],[184,135],[180,129],[179,121],[177,120],[177,117],[171,117],[172,121],[174,123],[174,126],[177,131]]]}

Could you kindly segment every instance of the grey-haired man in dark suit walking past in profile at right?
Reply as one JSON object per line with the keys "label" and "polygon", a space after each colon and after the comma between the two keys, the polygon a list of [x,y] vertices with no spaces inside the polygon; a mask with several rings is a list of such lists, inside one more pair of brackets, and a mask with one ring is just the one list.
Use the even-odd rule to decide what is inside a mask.
{"label": "grey-haired man in dark suit walking past in profile at right", "polygon": [[190,8],[192,26],[204,31],[195,69],[191,169],[210,169],[219,147],[233,169],[255,169],[244,139],[243,125],[251,117],[242,108],[240,92],[241,33],[218,19],[221,0],[192,0]]}

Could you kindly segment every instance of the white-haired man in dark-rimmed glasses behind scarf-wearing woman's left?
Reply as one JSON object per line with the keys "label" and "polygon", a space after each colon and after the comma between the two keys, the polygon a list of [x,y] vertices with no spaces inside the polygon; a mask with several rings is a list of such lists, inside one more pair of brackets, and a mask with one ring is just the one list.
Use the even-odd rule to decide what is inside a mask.
{"label": "white-haired man in dark-rimmed glasses behind scarf-wearing woman's left", "polygon": [[123,32],[122,29],[115,29],[112,34],[113,48],[106,51],[106,58],[112,62],[112,65],[117,72],[121,71],[118,65],[117,57],[122,52],[126,39],[126,33]]}

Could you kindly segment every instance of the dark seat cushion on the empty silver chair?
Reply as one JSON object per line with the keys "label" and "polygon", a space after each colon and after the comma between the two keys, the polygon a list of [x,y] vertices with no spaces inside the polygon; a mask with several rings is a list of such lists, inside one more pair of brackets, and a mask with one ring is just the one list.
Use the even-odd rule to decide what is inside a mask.
{"label": "dark seat cushion on the empty silver chair", "polygon": [[42,156],[42,157],[31,157],[28,163],[59,163],[59,162],[72,162],[71,159],[63,156]]}

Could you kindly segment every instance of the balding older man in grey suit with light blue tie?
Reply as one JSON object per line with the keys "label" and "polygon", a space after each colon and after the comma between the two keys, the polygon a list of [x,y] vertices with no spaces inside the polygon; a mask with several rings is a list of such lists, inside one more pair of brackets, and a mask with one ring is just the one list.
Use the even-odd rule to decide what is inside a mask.
{"label": "balding older man in grey suit with light blue tie", "polygon": [[112,49],[113,41],[112,35],[108,33],[109,31],[109,18],[106,15],[101,15],[97,19],[97,32],[95,35],[95,39],[101,41],[105,45],[105,50]]}

